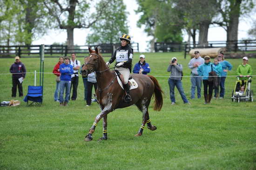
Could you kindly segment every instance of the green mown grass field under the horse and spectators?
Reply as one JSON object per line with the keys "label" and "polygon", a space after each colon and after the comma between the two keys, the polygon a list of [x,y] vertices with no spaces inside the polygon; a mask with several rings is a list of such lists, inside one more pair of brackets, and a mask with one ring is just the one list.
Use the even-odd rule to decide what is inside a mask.
{"label": "green mown grass field under the horse and spectators", "polygon": [[[184,76],[189,76],[189,59],[183,59],[181,52],[145,55],[150,75],[166,76],[156,77],[164,91],[162,110],[149,108],[156,131],[144,130],[141,137],[134,137],[141,125],[141,112],[131,106],[108,115],[108,141],[97,141],[102,136],[101,120],[94,140],[84,142],[100,109],[96,103],[85,106],[81,78],[76,101],[67,107],[54,102],[55,76],[51,72],[58,59],[46,58],[43,105],[27,107],[23,98],[17,97],[21,105],[0,107],[0,170],[255,170],[256,105],[231,102],[236,78],[226,78],[225,98],[212,99],[210,105],[204,105],[203,98],[184,105],[177,91],[176,105],[170,105],[168,62],[177,57]],[[134,65],[138,56],[135,53]],[[83,59],[79,60],[82,63]],[[0,101],[14,99],[11,75],[5,74],[13,61],[0,59]],[[39,59],[21,61],[27,72],[40,71]],[[233,65],[228,75],[236,75],[242,59],[228,61]],[[256,59],[249,59],[249,64],[255,70]],[[184,77],[182,82],[189,98],[190,78]],[[24,80],[24,95],[27,85],[34,85],[33,73]],[[256,92],[254,78],[251,87]]]}

